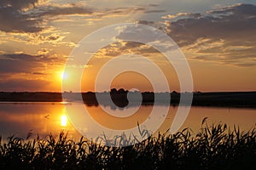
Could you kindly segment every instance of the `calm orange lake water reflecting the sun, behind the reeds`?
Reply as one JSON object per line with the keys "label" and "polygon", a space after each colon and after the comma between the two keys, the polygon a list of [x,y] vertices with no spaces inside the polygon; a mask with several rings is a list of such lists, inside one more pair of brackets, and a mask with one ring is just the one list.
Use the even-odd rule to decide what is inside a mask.
{"label": "calm orange lake water reflecting the sun, behind the reeds", "polygon": [[[71,104],[72,105],[72,104]],[[111,129],[126,129],[137,127],[137,122],[144,122],[150,115],[153,106],[141,106],[137,112],[131,115],[134,108],[116,109],[105,107],[105,111],[110,111],[113,115],[106,114],[99,106],[86,106],[85,109],[90,112],[90,116],[104,127]],[[171,127],[173,117],[176,114],[177,107],[158,105],[158,111],[166,109],[166,113],[159,113],[159,116],[166,116],[165,122],[159,128],[160,132],[166,132]],[[133,111],[134,112],[134,111]],[[70,115],[70,113],[69,113]],[[75,117],[76,113],[72,113]],[[119,115],[121,118],[115,118]],[[256,110],[245,108],[217,108],[217,107],[192,107],[189,116],[183,123],[184,127],[190,127],[193,131],[198,131],[201,127],[201,121],[208,117],[208,124],[212,122],[225,122],[230,126],[237,125],[242,130],[248,130],[256,123]],[[80,118],[78,118],[80,119]],[[86,126],[86,120],[84,120]],[[3,138],[15,134],[26,139],[28,133],[32,137],[45,138],[49,133],[58,134],[61,130],[68,131],[70,138],[78,139],[80,134],[73,127],[72,122],[68,120],[65,105],[61,103],[0,103],[0,135]],[[97,129],[90,130],[93,131]]]}

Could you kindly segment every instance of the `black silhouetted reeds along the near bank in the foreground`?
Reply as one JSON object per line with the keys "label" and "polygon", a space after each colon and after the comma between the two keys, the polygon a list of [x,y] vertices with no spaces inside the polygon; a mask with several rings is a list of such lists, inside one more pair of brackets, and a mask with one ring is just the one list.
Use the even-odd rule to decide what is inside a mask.
{"label": "black silhouetted reeds along the near bank in the foreground", "polygon": [[256,169],[255,129],[204,121],[198,133],[159,133],[127,147],[74,141],[63,132],[46,139],[10,136],[5,143],[0,138],[0,169]]}

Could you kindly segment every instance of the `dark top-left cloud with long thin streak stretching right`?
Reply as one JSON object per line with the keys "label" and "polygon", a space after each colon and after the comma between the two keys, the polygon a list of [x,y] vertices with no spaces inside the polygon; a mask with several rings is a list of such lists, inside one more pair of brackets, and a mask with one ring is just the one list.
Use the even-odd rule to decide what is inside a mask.
{"label": "dark top-left cloud with long thin streak stretching right", "polygon": [[[49,3],[42,0],[3,0],[0,3],[0,31],[40,32],[49,28],[49,20],[63,20],[63,16],[85,16],[85,20],[99,20],[104,17],[125,16],[147,11],[149,7],[131,8],[90,8],[85,3]],[[68,20],[68,19],[66,19]]]}

